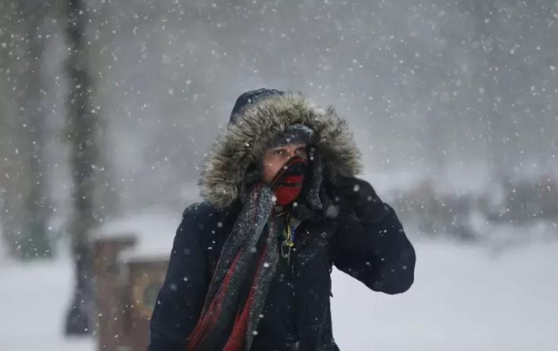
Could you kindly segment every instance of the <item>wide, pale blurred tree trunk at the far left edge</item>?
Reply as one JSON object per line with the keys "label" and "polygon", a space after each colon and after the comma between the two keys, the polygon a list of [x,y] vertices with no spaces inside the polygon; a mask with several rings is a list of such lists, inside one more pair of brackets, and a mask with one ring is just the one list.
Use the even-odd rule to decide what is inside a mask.
{"label": "wide, pale blurred tree trunk at the far left edge", "polygon": [[[15,258],[52,256],[47,233],[50,217],[45,181],[45,111],[42,58],[45,49],[44,21],[48,3],[40,0],[9,1],[0,6],[8,13],[3,24],[17,60],[3,58],[3,74],[13,85],[9,94],[12,102],[3,104],[3,139],[7,147],[3,157],[6,178],[3,187],[2,225],[8,240],[10,255]],[[6,31],[4,32],[6,33]],[[5,43],[4,43],[5,44]],[[11,77],[10,77],[11,75]],[[13,109],[6,111],[8,104]]]}

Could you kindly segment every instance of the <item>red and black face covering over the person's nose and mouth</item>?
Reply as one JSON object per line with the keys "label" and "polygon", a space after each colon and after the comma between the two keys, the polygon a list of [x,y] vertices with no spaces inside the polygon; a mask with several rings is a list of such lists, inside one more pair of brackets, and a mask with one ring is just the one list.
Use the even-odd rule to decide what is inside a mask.
{"label": "red and black face covering over the person's nose and mouth", "polygon": [[289,205],[301,194],[308,162],[299,156],[292,157],[281,167],[271,182],[278,205]]}

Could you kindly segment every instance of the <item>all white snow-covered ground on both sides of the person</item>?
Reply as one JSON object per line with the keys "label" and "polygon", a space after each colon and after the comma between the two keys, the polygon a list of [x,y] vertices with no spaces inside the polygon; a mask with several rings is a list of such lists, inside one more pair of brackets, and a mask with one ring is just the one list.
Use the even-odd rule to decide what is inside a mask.
{"label": "all white snow-covered ground on both sides of the person", "polygon": [[[372,292],[333,273],[333,328],[344,351],[558,350],[558,242],[492,253],[416,243],[408,292]],[[0,350],[93,351],[63,338],[73,272],[68,258],[0,266]]]}

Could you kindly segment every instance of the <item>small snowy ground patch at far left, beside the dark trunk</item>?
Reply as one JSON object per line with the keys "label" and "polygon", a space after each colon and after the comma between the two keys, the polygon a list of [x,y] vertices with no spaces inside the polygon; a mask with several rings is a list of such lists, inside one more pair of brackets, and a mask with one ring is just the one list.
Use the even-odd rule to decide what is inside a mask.
{"label": "small snowy ground patch at far left, beside the dark trunk", "polygon": [[72,278],[69,258],[25,265],[0,261],[0,350],[95,350],[92,338],[63,337]]}

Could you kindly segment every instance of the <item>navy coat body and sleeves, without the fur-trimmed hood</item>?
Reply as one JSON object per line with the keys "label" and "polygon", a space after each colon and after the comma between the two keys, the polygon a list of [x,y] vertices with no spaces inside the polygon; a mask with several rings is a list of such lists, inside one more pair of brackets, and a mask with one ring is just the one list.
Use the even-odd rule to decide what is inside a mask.
{"label": "navy coat body and sleeves, without the fur-trimmed hood", "polygon": [[[413,283],[415,254],[402,225],[389,205],[379,220],[362,225],[348,214],[337,219],[308,220],[297,228],[294,265],[296,326],[300,350],[336,350],[331,331],[331,267],[351,274],[375,291],[396,294]],[[234,208],[216,210],[209,203],[190,205],[176,231],[167,278],[159,292],[151,319],[151,351],[183,351],[186,338],[202,310],[212,269],[220,248],[234,224]],[[324,232],[333,232],[331,242],[320,242]],[[275,282],[275,284],[277,284]],[[278,293],[278,295],[274,295]],[[270,289],[268,301],[287,299]],[[276,302],[277,304],[277,302]],[[289,302],[283,303],[285,306]],[[266,306],[273,311],[273,307]],[[286,313],[286,311],[285,311]],[[278,325],[276,313],[266,314],[261,329],[289,329]],[[269,321],[269,324],[266,323]],[[277,331],[277,334],[282,334]],[[260,331],[252,350],[290,350],[282,341],[266,340]],[[271,345],[269,345],[271,343]],[[277,344],[274,344],[277,343]]]}

